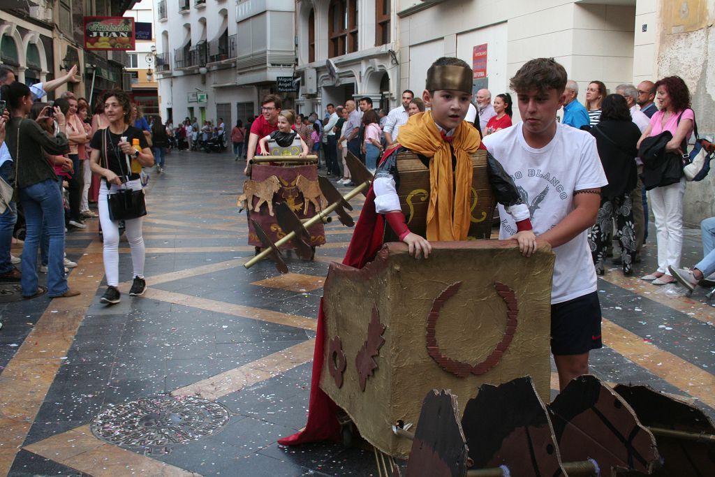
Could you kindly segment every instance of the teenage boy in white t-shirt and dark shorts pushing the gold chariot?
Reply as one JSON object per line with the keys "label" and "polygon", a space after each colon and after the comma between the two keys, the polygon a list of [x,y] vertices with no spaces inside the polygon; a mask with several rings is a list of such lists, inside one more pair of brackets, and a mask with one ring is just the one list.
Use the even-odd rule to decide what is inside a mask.
{"label": "teenage boy in white t-shirt and dark shorts pushing the gold chariot", "polygon": [[[511,79],[522,122],[484,138],[528,205],[537,237],[556,253],[551,290],[551,352],[561,390],[588,373],[588,352],[601,348],[601,305],[587,230],[596,222],[601,187],[608,184],[596,139],[556,122],[566,70],[533,59]],[[516,226],[499,205],[499,238]]]}

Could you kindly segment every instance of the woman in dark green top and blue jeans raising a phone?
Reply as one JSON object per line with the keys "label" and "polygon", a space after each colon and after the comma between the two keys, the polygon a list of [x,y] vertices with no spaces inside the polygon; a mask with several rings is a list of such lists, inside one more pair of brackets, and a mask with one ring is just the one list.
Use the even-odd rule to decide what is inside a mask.
{"label": "woman in dark green top and blue jeans raising a phone", "polygon": [[[59,132],[49,134],[37,122],[26,119],[32,109],[32,94],[26,85],[14,82],[2,87],[2,98],[11,112],[6,127],[6,142],[14,161],[20,203],[26,221],[25,244],[22,247],[22,295],[31,298],[41,290],[37,287],[37,248],[46,220],[49,233],[47,292],[50,297],[72,297],[79,292],[70,290],[64,276],[64,210],[57,175],[45,158],[48,154],[66,154],[69,142],[66,137],[66,119],[56,107],[52,114]],[[47,107],[37,117],[39,122],[48,117]],[[65,159],[71,169],[71,160]]]}

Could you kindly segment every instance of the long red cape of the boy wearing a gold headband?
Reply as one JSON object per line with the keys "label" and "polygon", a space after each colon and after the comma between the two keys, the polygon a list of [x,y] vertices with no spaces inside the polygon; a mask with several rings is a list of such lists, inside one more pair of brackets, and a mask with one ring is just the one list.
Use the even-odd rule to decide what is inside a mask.
{"label": "long red cape of the boy wearing a gold headband", "polygon": [[[398,147],[388,149],[383,155],[383,161],[397,151]],[[375,213],[375,192],[370,187],[365,198],[365,205],[360,212],[360,218],[352,233],[350,245],[347,247],[343,265],[362,268],[371,262],[383,246],[385,222],[383,216]],[[340,423],[337,422],[337,412],[340,409],[322,389],[320,389],[320,371],[322,370],[323,352],[325,347],[325,315],[322,311],[322,300],[317,312],[317,330],[315,335],[315,352],[313,353],[312,378],[310,379],[310,404],[308,405],[308,421],[305,429],[292,436],[278,440],[283,446],[297,446],[309,442],[341,441]]]}

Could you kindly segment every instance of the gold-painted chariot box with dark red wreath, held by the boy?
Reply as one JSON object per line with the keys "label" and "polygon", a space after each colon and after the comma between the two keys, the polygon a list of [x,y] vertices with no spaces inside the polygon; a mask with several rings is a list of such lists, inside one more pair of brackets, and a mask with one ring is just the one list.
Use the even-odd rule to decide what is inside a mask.
{"label": "gold-painted chariot box with dark red wreath, held by the boy", "polygon": [[553,261],[546,244],[526,258],[514,242],[478,240],[433,242],[428,260],[391,242],[362,269],[333,263],[320,388],[403,458],[410,442],[390,426],[417,423],[433,388],[457,395],[462,413],[480,385],[531,375],[548,400]]}

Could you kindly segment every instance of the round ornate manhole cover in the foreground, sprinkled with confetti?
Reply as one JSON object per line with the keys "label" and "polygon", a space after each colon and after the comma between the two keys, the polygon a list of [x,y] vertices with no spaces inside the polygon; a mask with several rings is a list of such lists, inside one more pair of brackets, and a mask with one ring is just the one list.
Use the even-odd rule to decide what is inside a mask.
{"label": "round ornate manhole cover in the foreground, sprinkled with confetti", "polygon": [[229,419],[229,410],[219,403],[167,394],[110,405],[89,428],[115,446],[168,453],[171,446],[220,432]]}

